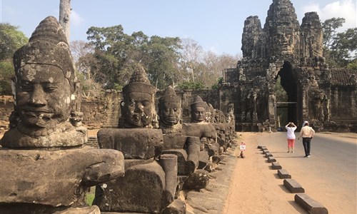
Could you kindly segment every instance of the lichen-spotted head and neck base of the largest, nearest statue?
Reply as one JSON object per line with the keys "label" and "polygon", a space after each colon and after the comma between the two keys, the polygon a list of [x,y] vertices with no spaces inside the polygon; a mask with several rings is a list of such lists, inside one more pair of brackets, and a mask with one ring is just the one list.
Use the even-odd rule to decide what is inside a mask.
{"label": "lichen-spotted head and neck base of the largest, nearest statue", "polygon": [[[15,107],[11,129],[1,139],[9,148],[59,148],[81,146],[86,130],[76,106],[79,83],[71,51],[56,18],[49,16],[37,26],[14,54]],[[70,134],[68,134],[70,133]],[[72,136],[72,138],[69,138]]]}

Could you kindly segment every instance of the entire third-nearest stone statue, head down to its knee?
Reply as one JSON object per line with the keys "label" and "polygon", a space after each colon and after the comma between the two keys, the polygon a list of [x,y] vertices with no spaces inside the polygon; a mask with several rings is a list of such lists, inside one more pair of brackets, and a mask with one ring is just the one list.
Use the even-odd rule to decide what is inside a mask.
{"label": "entire third-nearest stone statue, head down to its knee", "polygon": [[[199,190],[208,184],[206,172],[198,168],[200,138],[195,136],[184,136],[182,134],[181,121],[181,98],[176,96],[174,88],[169,86],[164,95],[159,99],[159,124],[164,133],[163,154],[174,154],[178,157],[178,175],[186,175],[188,178],[185,186],[188,189]],[[196,175],[193,175],[195,173]],[[193,179],[194,178],[194,179]],[[190,185],[188,186],[187,183]]]}

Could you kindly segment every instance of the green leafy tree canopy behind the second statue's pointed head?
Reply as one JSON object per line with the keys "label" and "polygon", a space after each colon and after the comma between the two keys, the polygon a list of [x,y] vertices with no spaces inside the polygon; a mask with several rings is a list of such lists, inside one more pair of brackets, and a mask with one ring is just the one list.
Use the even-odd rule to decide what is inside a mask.
{"label": "green leafy tree canopy behind the second statue's pointed head", "polygon": [[131,76],[131,63],[141,63],[154,86],[164,88],[175,83],[178,37],[146,36],[143,32],[124,34],[121,25],[106,28],[91,27],[87,31],[89,44],[94,46],[95,80],[104,88],[124,86]]}

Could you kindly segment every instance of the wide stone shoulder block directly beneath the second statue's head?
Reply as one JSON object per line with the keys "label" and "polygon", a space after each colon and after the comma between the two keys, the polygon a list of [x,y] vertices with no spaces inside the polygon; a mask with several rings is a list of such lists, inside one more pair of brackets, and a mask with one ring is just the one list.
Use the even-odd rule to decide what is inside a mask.
{"label": "wide stone shoulder block directly beneath the second statue's head", "polygon": [[103,128],[98,131],[99,148],[121,151],[125,159],[149,159],[159,156],[164,147],[161,129]]}

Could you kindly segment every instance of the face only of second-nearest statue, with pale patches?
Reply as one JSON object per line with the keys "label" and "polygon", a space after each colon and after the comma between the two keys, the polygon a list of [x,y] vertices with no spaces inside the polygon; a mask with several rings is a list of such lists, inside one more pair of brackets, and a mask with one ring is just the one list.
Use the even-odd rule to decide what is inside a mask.
{"label": "face only of second-nearest statue, with pale patches", "polygon": [[131,92],[124,101],[125,121],[136,128],[148,126],[153,121],[151,95],[149,93]]}

